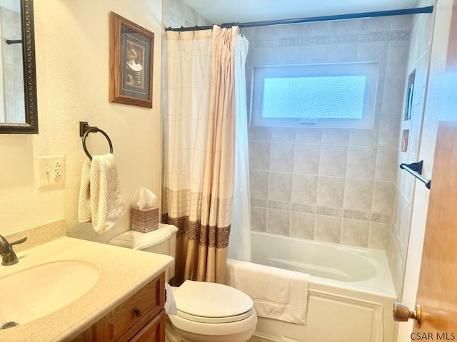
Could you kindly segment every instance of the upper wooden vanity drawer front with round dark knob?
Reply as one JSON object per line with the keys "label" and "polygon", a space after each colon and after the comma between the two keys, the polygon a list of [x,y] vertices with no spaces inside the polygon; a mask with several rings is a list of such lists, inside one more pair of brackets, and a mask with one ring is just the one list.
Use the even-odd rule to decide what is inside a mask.
{"label": "upper wooden vanity drawer front with round dark knob", "polygon": [[96,341],[129,341],[165,305],[165,274],[140,289],[94,325]]}

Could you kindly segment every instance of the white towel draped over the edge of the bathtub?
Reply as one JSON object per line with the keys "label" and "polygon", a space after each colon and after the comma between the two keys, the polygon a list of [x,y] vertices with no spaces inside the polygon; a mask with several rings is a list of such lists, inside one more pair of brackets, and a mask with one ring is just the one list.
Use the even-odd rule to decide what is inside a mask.
{"label": "white towel draped over the edge of the bathtub", "polygon": [[227,285],[254,302],[257,316],[306,324],[309,274],[227,259]]}

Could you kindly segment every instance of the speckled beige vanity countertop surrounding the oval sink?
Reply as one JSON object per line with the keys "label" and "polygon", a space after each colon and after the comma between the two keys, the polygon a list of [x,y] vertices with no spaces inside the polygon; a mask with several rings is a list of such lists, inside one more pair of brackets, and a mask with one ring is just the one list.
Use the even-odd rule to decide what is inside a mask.
{"label": "speckled beige vanity countertop surrounding the oval sink", "polygon": [[86,294],[64,308],[35,321],[0,330],[0,341],[69,341],[174,262],[166,255],[71,237],[26,249],[17,256],[18,264],[0,266],[0,278],[41,264],[77,260],[94,265],[99,270],[99,279]]}

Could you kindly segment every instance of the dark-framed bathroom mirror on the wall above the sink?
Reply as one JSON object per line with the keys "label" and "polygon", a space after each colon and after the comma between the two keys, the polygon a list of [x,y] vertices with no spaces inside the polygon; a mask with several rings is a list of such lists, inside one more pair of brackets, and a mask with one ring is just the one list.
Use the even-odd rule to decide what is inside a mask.
{"label": "dark-framed bathroom mirror on the wall above the sink", "polygon": [[0,133],[38,133],[33,5],[0,3]]}

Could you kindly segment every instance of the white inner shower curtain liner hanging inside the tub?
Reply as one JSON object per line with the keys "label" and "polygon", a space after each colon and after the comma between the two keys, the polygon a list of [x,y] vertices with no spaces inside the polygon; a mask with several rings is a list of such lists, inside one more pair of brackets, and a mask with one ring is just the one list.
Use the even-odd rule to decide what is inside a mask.
{"label": "white inner shower curtain liner hanging inside the tub", "polygon": [[249,203],[248,113],[246,110],[246,56],[249,42],[243,34],[235,45],[235,182],[229,238],[229,258],[251,261],[251,204]]}

